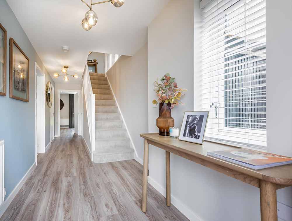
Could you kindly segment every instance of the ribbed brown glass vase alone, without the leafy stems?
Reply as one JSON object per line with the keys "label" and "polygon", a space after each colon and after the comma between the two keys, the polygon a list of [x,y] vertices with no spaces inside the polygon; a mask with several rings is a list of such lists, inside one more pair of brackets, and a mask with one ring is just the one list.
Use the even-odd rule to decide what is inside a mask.
{"label": "ribbed brown glass vase alone, without the leafy stems", "polygon": [[170,105],[170,103],[159,103],[159,118],[156,119],[156,125],[161,136],[169,136],[169,128],[174,126]]}

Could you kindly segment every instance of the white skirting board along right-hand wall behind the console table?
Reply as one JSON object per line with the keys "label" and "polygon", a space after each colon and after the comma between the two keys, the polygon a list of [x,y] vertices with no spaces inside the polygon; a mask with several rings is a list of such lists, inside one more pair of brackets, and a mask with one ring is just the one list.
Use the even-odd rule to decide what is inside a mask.
{"label": "white skirting board along right-hand wall behind the console table", "polygon": [[[143,165],[143,159],[140,157],[137,157],[137,162]],[[151,171],[149,171],[149,174]],[[148,183],[154,187],[161,195],[166,197],[166,190],[158,184],[154,179],[152,179],[150,176],[148,176]],[[192,210],[187,208],[185,204],[183,204],[181,201],[179,201],[177,198],[175,198],[173,195],[171,195],[171,204],[174,205],[183,215],[185,215],[189,220],[192,221],[203,221],[201,218],[199,218]]]}

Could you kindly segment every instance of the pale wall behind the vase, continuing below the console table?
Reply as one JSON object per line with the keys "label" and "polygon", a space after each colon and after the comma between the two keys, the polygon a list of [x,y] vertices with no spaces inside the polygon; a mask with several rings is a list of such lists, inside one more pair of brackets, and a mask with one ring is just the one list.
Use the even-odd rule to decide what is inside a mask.
{"label": "pale wall behind the vase, continuing below the console table", "polygon": [[[170,73],[178,85],[187,88],[186,106],[175,107],[172,116],[180,127],[184,111],[193,110],[194,17],[199,0],[171,0],[148,27],[148,116],[149,132],[158,132],[158,108],[152,83]],[[197,39],[195,37],[195,39]],[[195,43],[196,45],[196,43]],[[196,56],[196,54],[195,54]],[[141,157],[141,156],[139,156]],[[165,193],[165,151],[150,145],[149,181]],[[171,154],[172,203],[190,220],[258,221],[259,189],[224,174]]]}

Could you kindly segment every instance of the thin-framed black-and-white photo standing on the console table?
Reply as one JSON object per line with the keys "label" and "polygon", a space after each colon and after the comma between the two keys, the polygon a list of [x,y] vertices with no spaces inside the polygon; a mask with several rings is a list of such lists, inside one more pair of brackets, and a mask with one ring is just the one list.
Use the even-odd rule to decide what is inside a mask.
{"label": "thin-framed black-and-white photo standing on the console table", "polygon": [[185,112],[178,139],[180,141],[203,144],[208,117],[208,111]]}

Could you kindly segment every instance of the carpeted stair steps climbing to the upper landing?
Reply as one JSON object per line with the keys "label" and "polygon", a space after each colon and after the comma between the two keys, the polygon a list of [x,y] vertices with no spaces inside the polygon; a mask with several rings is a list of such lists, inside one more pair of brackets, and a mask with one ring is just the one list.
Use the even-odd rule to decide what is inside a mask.
{"label": "carpeted stair steps climbing to the upper landing", "polygon": [[95,94],[95,151],[93,161],[106,163],[134,159],[127,130],[105,74],[89,73]]}

